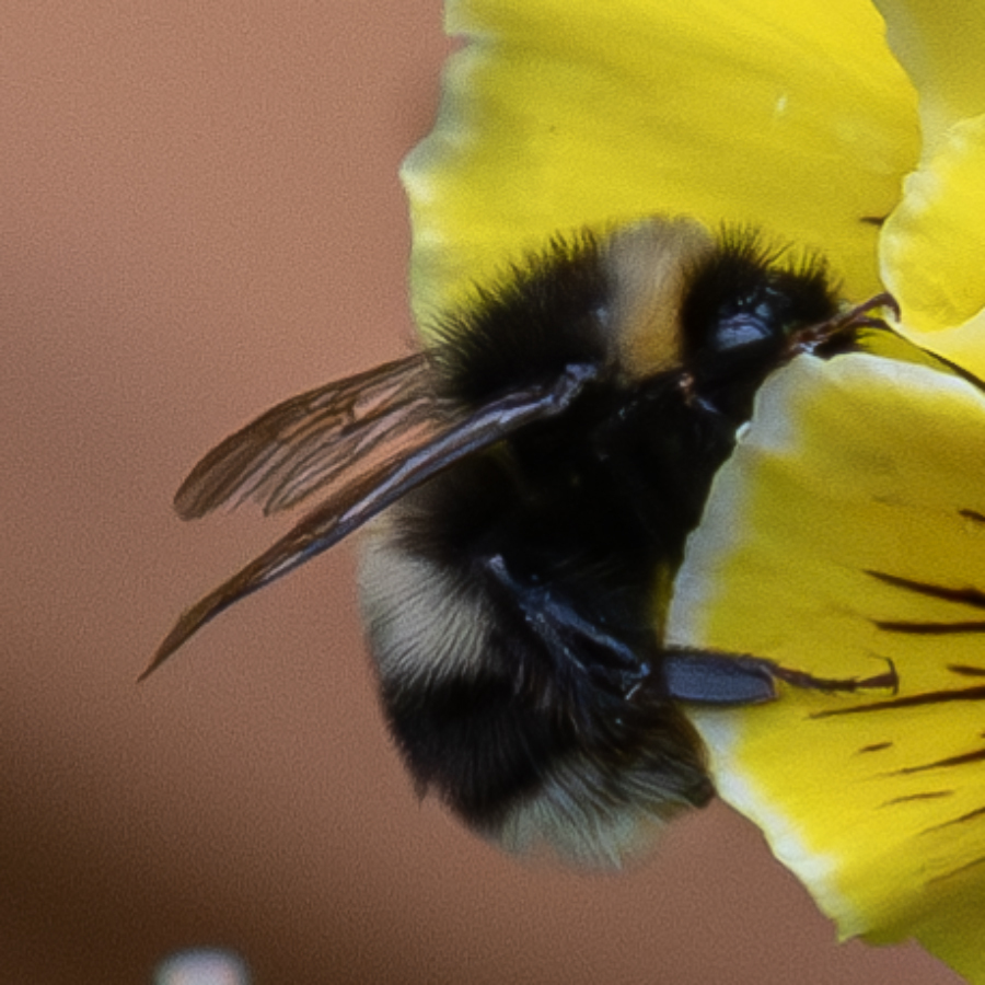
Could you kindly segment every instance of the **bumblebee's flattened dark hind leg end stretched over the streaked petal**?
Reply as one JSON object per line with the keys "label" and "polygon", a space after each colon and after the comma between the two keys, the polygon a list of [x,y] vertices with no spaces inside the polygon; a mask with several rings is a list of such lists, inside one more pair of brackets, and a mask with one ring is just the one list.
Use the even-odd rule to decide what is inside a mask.
{"label": "bumblebee's flattened dark hind leg end stretched over the streaked petal", "polygon": [[892,661],[871,677],[818,677],[781,667],[774,660],[716,650],[668,650],[661,662],[664,686],[671,697],[706,705],[756,705],[774,700],[776,682],[810,691],[895,691],[900,679]]}

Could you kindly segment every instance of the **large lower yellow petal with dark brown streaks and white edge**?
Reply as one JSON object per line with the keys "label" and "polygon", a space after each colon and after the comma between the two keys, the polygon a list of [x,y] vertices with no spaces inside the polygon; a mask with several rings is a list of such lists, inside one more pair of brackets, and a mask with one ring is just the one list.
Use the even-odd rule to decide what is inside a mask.
{"label": "large lower yellow petal with dark brown streaks and white edge", "polygon": [[985,981],[985,909],[967,923],[985,896],[982,390],[797,359],[763,387],[675,584],[672,640],[827,679],[892,661],[897,694],[784,687],[693,717],[721,795],[843,935],[915,935]]}

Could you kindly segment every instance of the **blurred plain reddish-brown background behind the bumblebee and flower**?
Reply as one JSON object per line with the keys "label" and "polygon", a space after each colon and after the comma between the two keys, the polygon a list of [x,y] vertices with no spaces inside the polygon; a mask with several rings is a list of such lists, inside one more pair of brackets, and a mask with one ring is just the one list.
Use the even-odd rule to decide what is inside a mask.
{"label": "blurred plain reddish-brown background behind the bumblebee and flower", "polygon": [[439,0],[7,0],[0,12],[0,982],[920,983],[721,808],[618,877],[416,802],[345,545],[141,686],[175,615],[283,529],[182,524],[200,453],[407,351],[397,164]]}

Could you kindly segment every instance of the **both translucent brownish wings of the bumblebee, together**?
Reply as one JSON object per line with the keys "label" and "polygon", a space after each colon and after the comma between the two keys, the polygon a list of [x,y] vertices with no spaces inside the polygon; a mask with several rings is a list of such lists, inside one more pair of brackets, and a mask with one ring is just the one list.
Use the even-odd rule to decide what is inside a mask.
{"label": "both translucent brownish wings of the bumblebee, together", "polygon": [[[195,467],[178,491],[183,515],[200,515],[233,497],[297,502],[332,479],[334,488],[290,533],[185,612],[141,680],[220,612],[327,551],[442,468],[560,414],[595,373],[570,366],[551,385],[513,391],[474,410],[429,393],[426,364],[415,357],[288,401],[247,425]],[[394,384],[394,378],[402,379]],[[305,407],[315,408],[318,424],[308,426]],[[285,484],[280,468],[292,482]]]}

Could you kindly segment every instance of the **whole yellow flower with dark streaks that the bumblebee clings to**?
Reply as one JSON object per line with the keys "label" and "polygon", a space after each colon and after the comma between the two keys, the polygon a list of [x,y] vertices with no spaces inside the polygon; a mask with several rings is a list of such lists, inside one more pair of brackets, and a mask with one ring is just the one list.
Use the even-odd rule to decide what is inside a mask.
{"label": "whole yellow flower with dark streaks that the bumblebee clings to", "polygon": [[[821,250],[854,301],[885,285],[901,331],[985,376],[985,12],[879,8],[448,0],[466,43],[404,169],[419,321],[558,231],[685,213]],[[694,720],[844,936],[985,982],[985,391],[899,348],[767,382],[669,633],[824,677],[892,662],[897,694]]]}

